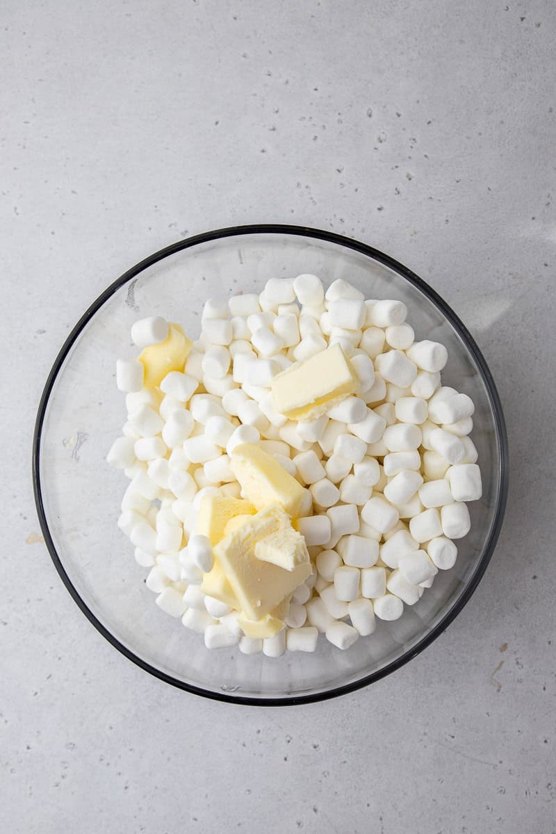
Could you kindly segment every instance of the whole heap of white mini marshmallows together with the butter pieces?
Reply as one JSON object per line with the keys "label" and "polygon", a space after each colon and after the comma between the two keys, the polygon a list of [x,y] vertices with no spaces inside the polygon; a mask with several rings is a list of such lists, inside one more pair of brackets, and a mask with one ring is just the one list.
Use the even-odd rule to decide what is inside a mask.
{"label": "whole heap of white mini marshmallows together with the butter pieces", "polygon": [[160,316],[118,359],[118,525],[158,606],[244,654],[348,649],[415,604],[481,496],[473,401],[401,301],[338,279],[208,299],[197,341]]}

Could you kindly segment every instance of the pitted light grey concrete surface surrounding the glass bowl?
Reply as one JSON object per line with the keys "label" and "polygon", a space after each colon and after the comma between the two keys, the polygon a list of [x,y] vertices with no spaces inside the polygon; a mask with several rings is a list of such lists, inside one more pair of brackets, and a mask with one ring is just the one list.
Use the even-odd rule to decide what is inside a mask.
{"label": "pitted light grey concrete surface surrounding the glass bowl", "polygon": [[[0,830],[556,831],[551,2],[3,4]],[[498,550],[416,661],[226,706],[93,630],[38,535],[30,439],[68,329],[180,237],[253,221],[408,264],[478,340],[512,455]]]}

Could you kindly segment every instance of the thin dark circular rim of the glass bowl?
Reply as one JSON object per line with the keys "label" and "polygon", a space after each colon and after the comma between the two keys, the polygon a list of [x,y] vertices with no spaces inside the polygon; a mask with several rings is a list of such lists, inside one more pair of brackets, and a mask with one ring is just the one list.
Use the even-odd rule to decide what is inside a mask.
{"label": "thin dark circular rim of the glass bowl", "polygon": [[[203,687],[201,686],[194,686],[193,684],[180,681],[178,680],[178,678],[174,678],[173,676],[168,675],[166,672],[157,669],[156,666],[152,666],[147,661],[144,661],[143,658],[136,655],[133,651],[128,649],[127,646],[124,646],[123,643],[118,641],[118,639],[115,636],[113,636],[113,634],[110,631],[108,631],[108,628],[105,625],[103,625],[103,623],[100,622],[100,620],[98,620],[98,618],[93,614],[93,611],[88,608],[88,605],[85,602],[85,600],[83,600],[83,597],[79,595],[78,590],[73,585],[68,574],[66,573],[66,570],[63,567],[62,560],[60,559],[56,547],[54,545],[53,537],[48,527],[48,520],[46,517],[46,511],[43,503],[43,485],[41,484],[40,452],[43,424],[48,408],[48,401],[50,399],[50,395],[52,394],[53,386],[56,382],[56,379],[58,378],[60,369],[63,366],[63,362],[68,356],[70,350],[73,347],[73,344],[78,339],[79,334],[81,334],[86,324],[88,324],[88,322],[93,318],[94,314],[96,314],[98,310],[103,306],[105,301],[111,298],[118,289],[123,287],[124,284],[127,284],[133,278],[137,277],[138,274],[143,272],[143,270],[148,269],[148,267],[153,266],[153,264],[157,264],[158,261],[168,258],[168,256],[170,255],[181,252],[184,249],[191,249],[193,246],[196,246],[198,244],[205,244],[210,241],[223,238],[253,234],[293,235],[297,237],[306,237],[310,239],[323,240],[331,244],[336,244],[340,247],[352,249],[353,251],[358,252],[359,254],[367,255],[368,257],[374,259],[375,261],[378,261],[378,263],[383,264],[383,266],[386,266],[389,269],[393,269],[393,271],[398,273],[403,279],[406,279],[409,282],[409,284],[413,284],[413,286],[417,287],[428,298],[429,301],[436,305],[436,307],[445,316],[445,318],[448,319],[450,324],[453,325],[454,329],[458,331],[458,334],[460,334],[460,336],[463,339],[463,342],[466,344],[469,352],[472,354],[473,360],[477,364],[480,374],[482,374],[483,376],[483,383],[487,390],[488,399],[491,405],[491,409],[493,411],[493,420],[494,427],[496,430],[498,455],[500,460],[498,493],[496,495],[493,525],[489,532],[488,538],[484,543],[483,555],[481,556],[481,559],[479,560],[473,575],[468,580],[468,584],[465,586],[462,595],[455,603],[455,605],[453,605],[453,607],[443,616],[442,620],[439,620],[438,623],[433,627],[433,629],[431,629],[431,631],[429,631],[427,635],[423,636],[423,638],[420,641],[418,641],[418,643],[415,646],[413,646],[412,649],[410,649],[409,651],[405,651],[403,655],[398,657],[396,660],[391,661],[386,666],[383,666],[382,669],[371,672],[368,675],[364,675],[357,681],[352,681],[351,683],[343,684],[340,686],[333,686],[333,688],[328,689],[326,691],[319,691],[309,695],[285,697],[273,696],[269,698],[263,698],[258,696],[236,695],[232,691],[211,691],[203,689]],[[166,246],[163,249],[159,249],[158,252],[148,255],[147,258],[144,258],[143,260],[139,261],[138,264],[135,264],[135,266],[131,267],[131,269],[128,269],[126,272],[120,275],[118,279],[113,281],[112,284],[109,284],[107,289],[104,289],[103,292],[98,296],[98,298],[93,301],[93,304],[91,304],[88,307],[85,313],[83,313],[81,318],[78,320],[78,323],[75,324],[73,329],[68,334],[68,337],[64,341],[62,348],[59,350],[56,359],[54,359],[53,366],[50,369],[46,383],[44,385],[43,394],[41,395],[41,399],[38,405],[38,413],[33,432],[32,470],[33,493],[35,497],[35,505],[37,507],[38,520],[41,525],[41,530],[43,531],[45,544],[47,545],[48,552],[50,554],[51,559],[53,560],[53,564],[56,570],[58,570],[58,574],[60,575],[63,584],[66,586],[70,595],[72,595],[73,600],[83,611],[83,614],[94,625],[97,631],[99,631],[103,635],[103,637],[109,643],[111,643],[112,646],[114,646],[114,648],[118,649],[118,651],[120,651],[123,654],[123,656],[127,657],[129,661],[135,663],[136,666],[139,666],[144,671],[149,672],[149,674],[153,675],[154,677],[157,677],[159,680],[164,681],[165,683],[168,683],[172,686],[176,686],[178,687],[178,689],[191,692],[194,695],[203,696],[213,701],[224,701],[227,703],[244,704],[250,706],[293,706],[299,704],[314,703],[316,701],[325,701],[329,698],[346,695],[348,694],[348,692],[353,692],[358,689],[362,689],[363,686],[369,686],[375,681],[379,681],[381,678],[390,675],[393,671],[398,670],[406,663],[408,663],[408,661],[413,660],[413,658],[418,656],[420,652],[422,652],[424,649],[430,646],[431,643],[433,643],[433,641],[435,641],[436,638],[448,628],[448,625],[450,625],[450,623],[452,623],[453,620],[455,620],[460,611],[463,610],[464,605],[468,603],[468,600],[470,600],[471,596],[473,595],[474,591],[478,586],[479,581],[483,577],[488,562],[490,561],[493,555],[493,550],[496,546],[496,543],[498,541],[498,535],[500,534],[500,530],[502,528],[503,515],[508,497],[508,436],[506,432],[505,421],[503,418],[502,404],[498,396],[496,385],[494,384],[493,376],[490,373],[488,365],[485,359],[483,358],[483,354],[478,349],[478,345],[473,339],[473,336],[469,333],[468,329],[465,327],[463,322],[453,312],[453,309],[451,309],[451,307],[448,306],[448,304],[438,295],[438,293],[436,293],[425,281],[423,281],[423,279],[419,278],[418,275],[415,274],[411,269],[408,269],[408,267],[404,266],[403,264],[400,264],[397,260],[391,258],[387,254],[384,254],[378,249],[374,249],[372,246],[369,246],[368,244],[360,243],[358,240],[347,238],[335,232],[329,232],[324,229],[313,229],[312,227],[308,226],[297,226],[290,224],[246,224],[240,226],[228,226],[223,229],[213,229],[212,231],[203,232],[201,234],[195,234],[186,239],[179,240],[174,244],[170,244],[169,246]]]}

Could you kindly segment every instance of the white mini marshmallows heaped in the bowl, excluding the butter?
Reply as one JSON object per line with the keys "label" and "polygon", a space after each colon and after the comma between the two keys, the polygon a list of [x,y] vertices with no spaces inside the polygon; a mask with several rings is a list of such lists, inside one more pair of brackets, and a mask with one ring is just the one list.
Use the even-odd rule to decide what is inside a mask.
{"label": "white mini marshmallows heaped in the bowl, excluding the butter", "polygon": [[[209,299],[184,367],[143,388],[143,365],[119,359],[128,392],[123,437],[109,463],[131,479],[118,525],[148,567],[168,614],[203,632],[208,648],[280,656],[314,651],[318,632],[346,649],[395,620],[451,568],[468,533],[466,501],[481,496],[468,435],[473,402],[443,387],[442,344],[414,341],[401,301],[365,300],[342,279],[271,279],[263,293]],[[139,348],[168,338],[160,317],[133,325]],[[270,385],[293,363],[338,343],[358,390],[316,420],[279,414]],[[213,557],[195,520],[203,495],[240,497],[234,447],[259,444],[303,485],[298,530],[313,573],[294,591],[278,635],[253,639],[238,612],[200,590]],[[187,546],[184,546],[187,545]]]}

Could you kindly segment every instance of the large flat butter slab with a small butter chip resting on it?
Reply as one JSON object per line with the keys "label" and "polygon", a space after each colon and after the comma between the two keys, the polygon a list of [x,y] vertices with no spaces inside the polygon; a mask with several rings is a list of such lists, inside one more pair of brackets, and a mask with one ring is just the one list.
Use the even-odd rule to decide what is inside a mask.
{"label": "large flat butter slab with a small butter chip resting on it", "polygon": [[238,599],[238,607],[248,620],[261,620],[311,573],[309,560],[294,570],[283,570],[255,556],[258,541],[288,525],[288,515],[278,504],[273,504],[253,515],[214,548],[214,556]]}

